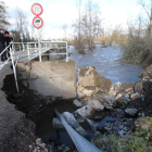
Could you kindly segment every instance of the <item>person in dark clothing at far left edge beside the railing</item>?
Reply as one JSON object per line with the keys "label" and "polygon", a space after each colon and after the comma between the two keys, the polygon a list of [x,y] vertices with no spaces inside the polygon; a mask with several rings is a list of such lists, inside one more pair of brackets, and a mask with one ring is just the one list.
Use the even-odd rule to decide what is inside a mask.
{"label": "person in dark clothing at far left edge beside the railing", "polygon": [[[4,45],[4,29],[0,28],[0,53],[4,50],[5,45]],[[3,62],[7,60],[7,53],[2,53],[1,55],[1,61]]]}

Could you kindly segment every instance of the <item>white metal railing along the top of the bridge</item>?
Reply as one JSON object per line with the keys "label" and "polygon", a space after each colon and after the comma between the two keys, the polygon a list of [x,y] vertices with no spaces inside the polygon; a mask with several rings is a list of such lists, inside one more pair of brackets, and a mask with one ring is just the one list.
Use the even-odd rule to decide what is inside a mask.
{"label": "white metal railing along the top of the bridge", "polygon": [[[41,41],[40,46],[38,45],[38,42],[11,42],[11,45],[13,50],[13,58],[15,61],[20,59],[23,59],[24,61],[25,58],[26,60],[28,59],[28,61],[30,61],[34,58],[39,56],[39,61],[41,62],[41,56],[49,54],[65,55],[66,61],[68,61],[66,41]],[[53,53],[49,51],[52,49],[56,51]]]}

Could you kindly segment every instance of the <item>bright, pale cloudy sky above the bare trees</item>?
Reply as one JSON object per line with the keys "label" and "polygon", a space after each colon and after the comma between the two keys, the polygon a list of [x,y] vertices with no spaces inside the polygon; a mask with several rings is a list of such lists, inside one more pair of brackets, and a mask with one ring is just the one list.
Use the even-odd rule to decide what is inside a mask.
{"label": "bright, pale cloudy sky above the bare trees", "polygon": [[[138,0],[92,0],[97,2],[101,9],[101,17],[104,20],[104,25],[125,26],[128,20],[135,20],[141,8]],[[145,0],[150,1],[150,0]],[[40,3],[43,8],[41,17],[45,23],[45,38],[61,38],[64,36],[63,25],[67,24],[72,34],[72,24],[77,17],[75,0],[4,0],[8,8],[8,13],[11,16],[10,21],[13,23],[14,12],[16,8],[23,10],[26,14],[29,24],[34,18],[30,11],[33,3]],[[87,0],[83,0],[86,3]]]}

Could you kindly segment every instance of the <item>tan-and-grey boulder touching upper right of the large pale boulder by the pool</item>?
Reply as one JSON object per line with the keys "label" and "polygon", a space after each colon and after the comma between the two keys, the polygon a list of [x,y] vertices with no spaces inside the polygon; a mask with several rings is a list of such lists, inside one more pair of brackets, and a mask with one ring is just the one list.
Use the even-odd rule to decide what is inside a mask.
{"label": "tan-and-grey boulder touching upper right of the large pale boulder by the pool", "polygon": [[100,103],[98,100],[89,100],[88,105],[93,107],[96,111],[103,111],[104,105]]}

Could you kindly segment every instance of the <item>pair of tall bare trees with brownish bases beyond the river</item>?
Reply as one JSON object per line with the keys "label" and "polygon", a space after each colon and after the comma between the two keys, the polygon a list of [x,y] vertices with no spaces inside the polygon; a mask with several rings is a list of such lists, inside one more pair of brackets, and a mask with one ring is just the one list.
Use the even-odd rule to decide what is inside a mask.
{"label": "pair of tall bare trees with brownish bases beyond the river", "polygon": [[79,53],[84,53],[84,45],[89,46],[89,50],[93,50],[94,38],[101,28],[100,8],[97,3],[89,0],[84,10],[81,9],[81,0],[76,0],[78,18],[73,24],[75,30],[74,45]]}

